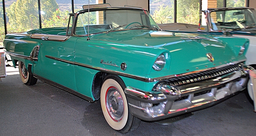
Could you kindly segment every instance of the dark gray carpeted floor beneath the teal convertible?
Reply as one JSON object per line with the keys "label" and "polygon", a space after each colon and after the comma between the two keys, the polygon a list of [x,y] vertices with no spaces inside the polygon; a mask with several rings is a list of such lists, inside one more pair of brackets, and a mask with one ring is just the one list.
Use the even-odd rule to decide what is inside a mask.
{"label": "dark gray carpeted floor beneath the teal convertible", "polygon": [[[104,120],[100,102],[89,103],[38,81],[26,86],[7,67],[0,82],[0,136],[121,136]],[[256,113],[244,92],[170,125],[141,122],[124,136],[255,136]]]}

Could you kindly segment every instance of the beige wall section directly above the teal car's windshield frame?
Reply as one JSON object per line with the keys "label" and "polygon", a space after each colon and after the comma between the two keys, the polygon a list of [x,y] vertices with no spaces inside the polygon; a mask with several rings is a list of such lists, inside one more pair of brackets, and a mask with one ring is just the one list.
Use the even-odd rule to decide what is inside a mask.
{"label": "beige wall section directly above the teal car's windshield frame", "polygon": [[148,0],[106,0],[112,7],[138,6],[148,10]]}

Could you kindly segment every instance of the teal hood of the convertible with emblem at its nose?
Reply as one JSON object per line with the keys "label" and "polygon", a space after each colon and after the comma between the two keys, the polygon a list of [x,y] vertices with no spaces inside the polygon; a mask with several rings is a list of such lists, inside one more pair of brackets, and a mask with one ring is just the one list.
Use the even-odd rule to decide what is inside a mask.
{"label": "teal hood of the convertible with emblem at its nose", "polygon": [[[115,31],[92,36],[94,39],[107,39],[116,45],[145,47],[147,50],[144,52],[157,54],[157,56],[167,52],[170,56],[170,67],[166,71],[171,70],[168,74],[182,74],[237,62],[234,50],[226,42],[219,40],[219,37],[224,36],[212,37],[154,30]],[[148,48],[151,50],[149,51]],[[212,54],[214,60],[210,61],[207,54]],[[153,64],[154,60],[148,63]]]}

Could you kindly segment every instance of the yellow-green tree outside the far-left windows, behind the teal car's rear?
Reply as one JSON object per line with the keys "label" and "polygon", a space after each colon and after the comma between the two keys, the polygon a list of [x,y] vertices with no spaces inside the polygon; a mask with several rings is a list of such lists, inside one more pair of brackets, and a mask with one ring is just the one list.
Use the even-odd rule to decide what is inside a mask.
{"label": "yellow-green tree outside the far-left windows, behind the teal car's rear", "polygon": [[[56,0],[41,0],[42,11],[49,18],[58,5]],[[39,28],[38,0],[17,0],[7,9],[8,32],[24,32]],[[9,28],[11,27],[11,28]]]}

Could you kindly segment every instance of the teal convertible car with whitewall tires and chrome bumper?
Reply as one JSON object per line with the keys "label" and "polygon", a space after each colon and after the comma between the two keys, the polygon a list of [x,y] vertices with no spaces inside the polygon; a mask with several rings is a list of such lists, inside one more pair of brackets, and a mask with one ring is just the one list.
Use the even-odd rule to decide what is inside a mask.
{"label": "teal convertible car with whitewall tires and chrome bumper", "polygon": [[246,87],[248,39],[164,32],[147,10],[96,6],[70,14],[66,28],[6,35],[6,54],[24,84],[39,79],[100,100],[106,121],[121,133],[140,120],[212,106]]}

